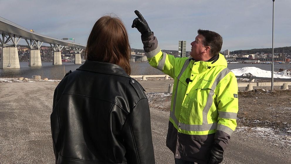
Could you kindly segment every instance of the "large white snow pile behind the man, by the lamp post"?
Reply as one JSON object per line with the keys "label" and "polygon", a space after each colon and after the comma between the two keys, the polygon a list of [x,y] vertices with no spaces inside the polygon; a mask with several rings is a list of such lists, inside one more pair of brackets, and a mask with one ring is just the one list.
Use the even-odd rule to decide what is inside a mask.
{"label": "large white snow pile behind the man, by the lamp post", "polygon": [[[243,67],[231,70],[236,76],[256,76],[271,78],[272,71],[262,70],[257,67]],[[291,78],[291,71],[274,72],[274,78]]]}

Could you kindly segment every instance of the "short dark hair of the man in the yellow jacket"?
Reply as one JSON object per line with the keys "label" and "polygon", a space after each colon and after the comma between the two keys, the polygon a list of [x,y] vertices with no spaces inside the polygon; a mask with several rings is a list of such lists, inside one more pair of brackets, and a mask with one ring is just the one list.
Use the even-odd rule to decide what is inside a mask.
{"label": "short dark hair of the man in the yellow jacket", "polygon": [[202,44],[210,47],[211,57],[217,55],[222,47],[222,36],[214,31],[198,29],[198,34],[204,36]]}

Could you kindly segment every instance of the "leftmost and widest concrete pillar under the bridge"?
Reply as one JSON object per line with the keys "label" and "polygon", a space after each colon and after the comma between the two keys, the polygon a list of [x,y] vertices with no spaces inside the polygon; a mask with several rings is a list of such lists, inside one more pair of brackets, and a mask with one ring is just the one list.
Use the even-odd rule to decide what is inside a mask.
{"label": "leftmost and widest concrete pillar under the bridge", "polygon": [[0,68],[20,68],[17,47],[2,48]]}

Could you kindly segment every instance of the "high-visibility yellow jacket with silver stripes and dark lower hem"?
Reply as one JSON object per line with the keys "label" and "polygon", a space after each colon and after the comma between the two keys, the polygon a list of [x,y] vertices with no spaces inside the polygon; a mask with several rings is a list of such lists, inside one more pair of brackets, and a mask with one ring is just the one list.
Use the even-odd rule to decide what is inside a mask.
{"label": "high-visibility yellow jacket with silver stripes and dark lower hem", "polygon": [[[204,144],[209,150],[213,139],[207,138],[226,148],[237,125],[238,85],[224,56],[214,61],[175,58],[161,51],[153,35],[143,43],[150,65],[174,78],[167,146],[175,158],[203,162],[190,152],[199,152]],[[197,150],[186,150],[189,144]]]}

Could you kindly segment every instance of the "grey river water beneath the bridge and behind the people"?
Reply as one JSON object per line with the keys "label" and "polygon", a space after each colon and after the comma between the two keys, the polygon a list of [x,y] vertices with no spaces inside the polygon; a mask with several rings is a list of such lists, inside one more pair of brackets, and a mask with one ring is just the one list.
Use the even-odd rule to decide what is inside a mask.
{"label": "grey river water beneath the bridge and behind the people", "polygon": [[[62,65],[53,65],[51,62],[42,62],[42,66],[28,66],[28,62],[19,62],[20,69],[0,69],[0,78],[32,78],[33,75],[40,75],[41,78],[62,79],[64,72],[75,71],[80,65],[63,62]],[[257,67],[263,70],[271,71],[271,64],[228,64],[229,69]],[[274,64],[274,71],[280,68],[290,69],[291,65]],[[65,68],[65,71],[64,71]],[[148,63],[131,63],[131,75],[158,75],[161,71],[151,67]]]}

